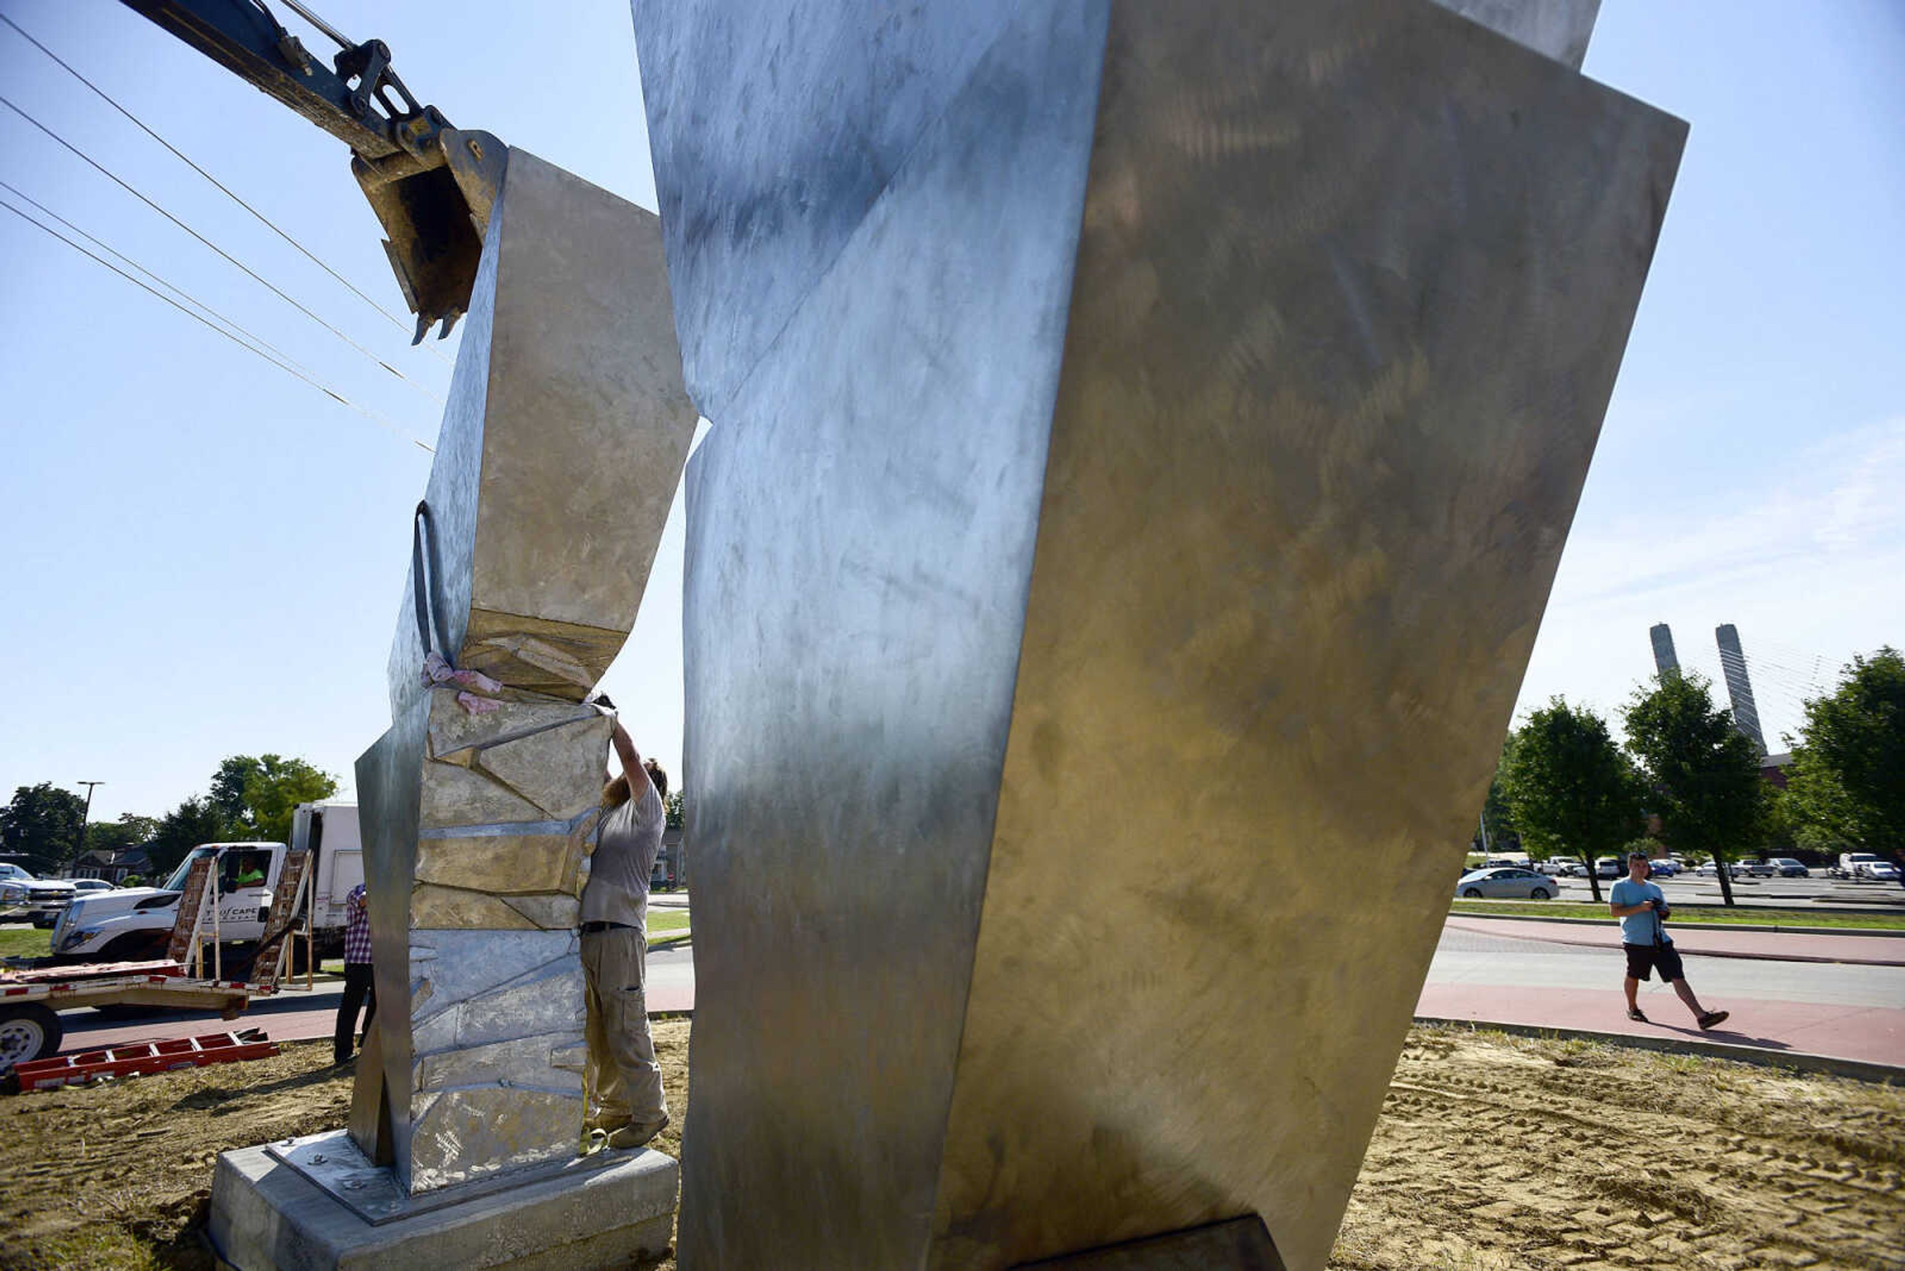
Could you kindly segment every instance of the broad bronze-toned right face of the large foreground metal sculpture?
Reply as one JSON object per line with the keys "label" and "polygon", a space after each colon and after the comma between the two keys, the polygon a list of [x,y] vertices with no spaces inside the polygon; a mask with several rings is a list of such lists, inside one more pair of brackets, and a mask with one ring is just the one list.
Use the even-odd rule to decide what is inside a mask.
{"label": "broad bronze-toned right face of the large foreground metal sculpture", "polygon": [[930,1265],[1324,1265],[1684,133],[1427,4],[1113,10]]}

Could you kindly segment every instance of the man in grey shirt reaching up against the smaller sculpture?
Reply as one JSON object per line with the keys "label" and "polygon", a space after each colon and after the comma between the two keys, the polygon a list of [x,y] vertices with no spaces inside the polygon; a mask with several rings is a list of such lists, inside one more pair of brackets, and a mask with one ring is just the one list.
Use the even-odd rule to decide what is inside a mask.
{"label": "man in grey shirt reaching up against the smaller sculpture", "polygon": [[[602,701],[602,705],[608,705]],[[602,823],[583,888],[583,979],[589,997],[592,1130],[608,1145],[640,1147],[669,1124],[661,1065],[648,1031],[648,875],[667,823],[669,776],[642,764],[629,732],[612,734],[621,776],[602,787]]]}

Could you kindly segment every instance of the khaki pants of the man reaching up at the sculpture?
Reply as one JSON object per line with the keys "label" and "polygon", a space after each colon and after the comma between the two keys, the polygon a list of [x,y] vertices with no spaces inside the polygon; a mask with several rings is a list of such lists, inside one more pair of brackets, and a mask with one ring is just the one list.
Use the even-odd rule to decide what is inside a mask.
{"label": "khaki pants of the man reaching up at the sculpture", "polygon": [[589,1084],[596,1124],[653,1124],[669,1111],[655,1039],[648,1033],[648,936],[636,928],[583,932],[589,993]]}

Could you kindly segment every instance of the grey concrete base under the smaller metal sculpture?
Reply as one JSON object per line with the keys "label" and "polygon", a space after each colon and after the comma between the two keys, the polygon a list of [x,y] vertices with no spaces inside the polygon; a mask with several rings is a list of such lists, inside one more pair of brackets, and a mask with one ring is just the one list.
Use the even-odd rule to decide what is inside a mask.
{"label": "grey concrete base under the smaller metal sculpture", "polygon": [[236,1271],[625,1267],[669,1248],[680,1168],[659,1151],[617,1155],[371,1223],[269,1145],[244,1147],[219,1155],[208,1233]]}

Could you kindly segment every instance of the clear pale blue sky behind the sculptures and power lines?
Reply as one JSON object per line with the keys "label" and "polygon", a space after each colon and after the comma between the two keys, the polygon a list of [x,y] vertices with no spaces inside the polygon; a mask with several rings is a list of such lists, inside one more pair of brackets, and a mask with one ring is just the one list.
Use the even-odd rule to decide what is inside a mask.
{"label": "clear pale blue sky behind the sculptures and power lines", "polygon": [[[653,208],[617,0],[316,0],[398,74]],[[116,0],[0,0],[173,145],[402,313],[345,147]],[[280,11],[280,15],[284,15]],[[307,44],[314,32],[290,19]],[[1905,6],[1606,0],[1587,71],[1694,130],[1524,682],[1617,705],[1669,621],[1716,669],[1739,625],[1772,734],[1812,678],[1905,644]],[[160,814],[225,755],[351,783],[455,339],[436,353],[295,255],[0,29],[0,91],[408,377],[326,333],[0,109],[0,181],[236,318],[375,423],[0,212],[0,798],[103,779]],[[0,191],[0,198],[17,202]],[[392,431],[394,429],[394,431]],[[680,509],[604,686],[678,772]]]}

